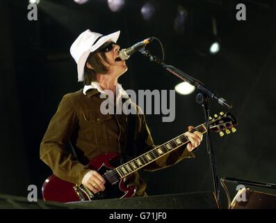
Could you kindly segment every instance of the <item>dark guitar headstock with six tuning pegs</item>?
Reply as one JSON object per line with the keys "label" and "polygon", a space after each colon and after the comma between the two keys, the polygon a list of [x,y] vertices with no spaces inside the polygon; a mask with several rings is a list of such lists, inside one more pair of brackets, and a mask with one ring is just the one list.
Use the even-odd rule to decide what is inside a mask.
{"label": "dark guitar headstock with six tuning pegs", "polygon": [[[209,117],[210,130],[213,132],[219,132],[220,137],[223,135],[236,132],[236,125],[238,125],[236,118],[230,113],[220,112],[220,114],[214,114],[213,117]],[[231,131],[230,131],[231,130]]]}

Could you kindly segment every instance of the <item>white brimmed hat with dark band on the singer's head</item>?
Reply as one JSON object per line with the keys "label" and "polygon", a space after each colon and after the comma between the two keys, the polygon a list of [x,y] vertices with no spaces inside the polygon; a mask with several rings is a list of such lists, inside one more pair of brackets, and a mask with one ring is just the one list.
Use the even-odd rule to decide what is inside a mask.
{"label": "white brimmed hat with dark band on the singer's head", "polygon": [[86,65],[86,59],[88,58],[90,52],[94,52],[108,41],[116,43],[119,36],[120,31],[104,36],[100,33],[94,33],[88,29],[76,38],[70,47],[70,53],[76,61],[78,67],[79,82],[83,82],[83,69]]}

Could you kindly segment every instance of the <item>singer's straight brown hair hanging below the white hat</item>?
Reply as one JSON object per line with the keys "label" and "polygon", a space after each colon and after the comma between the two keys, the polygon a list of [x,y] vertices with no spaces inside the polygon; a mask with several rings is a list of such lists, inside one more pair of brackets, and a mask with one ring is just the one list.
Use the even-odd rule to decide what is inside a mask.
{"label": "singer's straight brown hair hanging below the white hat", "polygon": [[[102,47],[99,49],[101,48]],[[90,85],[91,82],[97,82],[97,74],[106,74],[106,72],[108,72],[108,68],[102,63],[102,59],[106,61],[106,54],[104,52],[99,52],[99,54],[97,54],[97,52],[99,52],[99,50],[91,52],[86,60],[86,63],[89,63],[93,69],[88,68],[85,64],[83,73],[84,85]]]}

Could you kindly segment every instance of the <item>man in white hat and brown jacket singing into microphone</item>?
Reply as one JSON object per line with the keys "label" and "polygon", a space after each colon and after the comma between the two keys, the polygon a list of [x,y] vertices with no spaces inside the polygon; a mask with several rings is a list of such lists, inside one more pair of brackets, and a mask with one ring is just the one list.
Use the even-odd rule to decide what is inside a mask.
{"label": "man in white hat and brown jacket singing into microphone", "polygon": [[[86,30],[76,38],[70,52],[77,64],[79,82],[83,82],[84,87],[64,95],[40,145],[40,158],[58,178],[83,184],[93,193],[104,191],[106,180],[97,169],[88,168],[88,160],[104,153],[118,153],[122,158],[124,146],[130,138],[133,138],[131,158],[154,148],[144,114],[133,115],[134,129],[130,135],[131,115],[102,114],[100,109],[105,100],[100,95],[106,94],[105,90],[114,93],[115,107],[120,106],[118,102],[127,94],[117,82],[127,71],[125,61],[119,56],[120,46],[116,44],[119,35],[120,31],[104,36]],[[193,127],[189,126],[188,130],[193,130]],[[163,155],[143,169],[154,171],[169,167],[183,158],[194,157],[191,152],[200,145],[202,133],[187,132],[186,137],[190,140],[186,147],[181,146]],[[76,155],[65,149],[69,141],[78,153],[77,159]],[[134,196],[146,195],[146,184],[138,171],[127,181],[129,185],[136,186]]]}

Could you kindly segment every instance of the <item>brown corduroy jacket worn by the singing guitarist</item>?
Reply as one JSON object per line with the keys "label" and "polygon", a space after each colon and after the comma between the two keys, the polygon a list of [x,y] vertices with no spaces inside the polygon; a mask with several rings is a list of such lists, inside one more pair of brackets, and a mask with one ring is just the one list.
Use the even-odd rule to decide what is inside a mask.
{"label": "brown corduroy jacket worn by the singing guitarist", "polygon": [[[127,137],[128,117],[125,114],[102,114],[100,105],[103,98],[96,89],[83,94],[82,89],[68,93],[61,100],[56,114],[51,118],[49,127],[40,144],[40,158],[53,173],[63,180],[81,184],[83,176],[90,169],[87,161],[102,153],[121,155]],[[72,141],[79,161],[65,149]],[[143,114],[136,115],[134,150],[137,155],[154,147],[149,128]],[[144,169],[154,171],[175,164],[185,157],[195,157],[187,148],[178,148]],[[83,161],[82,161],[83,160]],[[129,183],[137,186],[137,196],[145,194],[145,182],[138,172],[129,178]]]}

